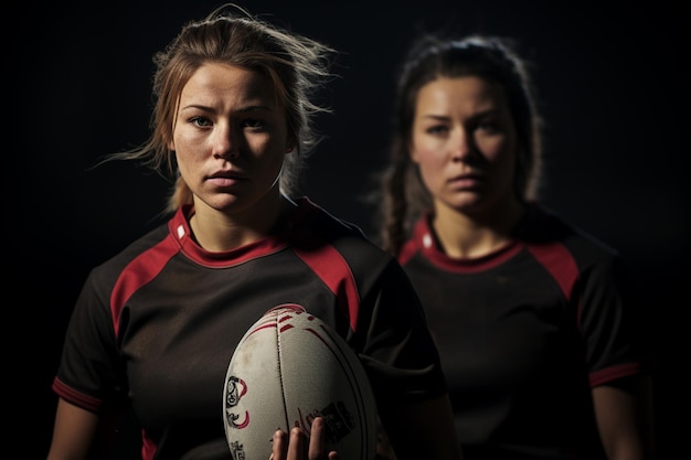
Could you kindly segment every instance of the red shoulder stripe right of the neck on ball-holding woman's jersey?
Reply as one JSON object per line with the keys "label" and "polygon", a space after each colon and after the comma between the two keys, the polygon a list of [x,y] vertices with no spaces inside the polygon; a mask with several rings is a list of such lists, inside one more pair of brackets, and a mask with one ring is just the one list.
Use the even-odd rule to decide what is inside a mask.
{"label": "red shoulder stripe right of the neck on ball-holding woman's jersey", "polygon": [[339,309],[348,318],[350,328],[355,331],[358,325],[358,306],[360,293],[355,286],[350,266],[333,246],[323,242],[317,234],[301,235],[300,244],[294,247],[295,254],[336,295]]}

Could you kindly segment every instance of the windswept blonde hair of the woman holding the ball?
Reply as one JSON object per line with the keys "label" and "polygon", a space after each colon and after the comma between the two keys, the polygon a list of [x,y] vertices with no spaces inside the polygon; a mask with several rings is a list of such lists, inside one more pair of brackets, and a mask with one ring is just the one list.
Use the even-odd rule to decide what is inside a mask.
{"label": "windswept blonde hair of the woman holding the ball", "polygon": [[330,46],[293,33],[254,17],[233,4],[224,4],[205,19],[187,23],[178,36],[153,56],[155,108],[151,135],[137,148],[108,157],[139,160],[174,181],[168,212],[192,202],[192,192],[180,176],[172,138],[176,110],[182,88],[204,63],[216,62],[259,72],[274,85],[279,104],[285,107],[288,136],[296,146],[286,156],[280,176],[281,193],[297,193],[305,158],[319,141],[313,128],[318,113],[329,108],[312,101],[316,90],[331,77]]}

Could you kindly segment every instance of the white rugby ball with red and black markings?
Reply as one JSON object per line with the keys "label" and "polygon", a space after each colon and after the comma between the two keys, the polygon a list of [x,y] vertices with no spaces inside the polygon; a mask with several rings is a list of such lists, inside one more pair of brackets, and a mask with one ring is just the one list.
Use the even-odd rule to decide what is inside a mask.
{"label": "white rugby ball with red and black markings", "polygon": [[227,367],[223,422],[233,459],[268,459],[277,429],[299,426],[309,436],[317,416],[327,451],[374,458],[376,406],[360,360],[329,324],[281,304],[247,330]]}

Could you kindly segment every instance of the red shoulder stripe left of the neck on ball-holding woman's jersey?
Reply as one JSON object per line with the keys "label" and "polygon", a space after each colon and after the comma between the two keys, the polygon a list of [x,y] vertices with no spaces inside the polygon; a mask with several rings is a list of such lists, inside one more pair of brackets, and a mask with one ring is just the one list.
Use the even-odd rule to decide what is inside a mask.
{"label": "red shoulder stripe left of the neck on ball-holding woman's jersey", "polygon": [[120,313],[129,297],[140,287],[151,281],[180,250],[180,244],[168,235],[149,250],[141,253],[123,270],[110,295],[110,314],[115,335],[118,335]]}

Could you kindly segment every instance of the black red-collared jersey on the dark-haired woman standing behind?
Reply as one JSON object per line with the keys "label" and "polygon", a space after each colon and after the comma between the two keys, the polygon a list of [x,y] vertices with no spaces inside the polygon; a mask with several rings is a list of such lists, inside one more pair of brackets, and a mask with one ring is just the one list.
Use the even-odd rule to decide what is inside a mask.
{"label": "black red-collared jersey on the dark-haired woman standing behind", "polygon": [[511,244],[476,259],[446,256],[426,216],[400,261],[466,460],[604,458],[591,388],[642,370],[612,248],[534,206]]}

